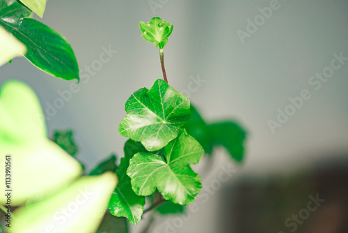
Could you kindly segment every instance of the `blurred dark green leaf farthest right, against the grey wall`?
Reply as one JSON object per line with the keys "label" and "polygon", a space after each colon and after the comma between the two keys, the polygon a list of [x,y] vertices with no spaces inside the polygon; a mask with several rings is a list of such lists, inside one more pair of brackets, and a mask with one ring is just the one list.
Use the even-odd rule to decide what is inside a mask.
{"label": "blurred dark green leaf farthest right, against the grey wall", "polygon": [[223,146],[237,162],[244,158],[245,131],[232,121],[212,123],[208,126],[214,145]]}

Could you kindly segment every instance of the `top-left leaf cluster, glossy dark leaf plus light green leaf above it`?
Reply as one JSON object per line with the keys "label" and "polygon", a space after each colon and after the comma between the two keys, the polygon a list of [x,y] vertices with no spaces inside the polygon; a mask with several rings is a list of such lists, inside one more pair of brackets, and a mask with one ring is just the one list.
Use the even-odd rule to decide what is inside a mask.
{"label": "top-left leaf cluster, glossy dark leaf plus light green leaf above it", "polygon": [[34,66],[64,80],[79,80],[79,67],[68,40],[31,18],[32,12],[42,17],[45,6],[46,0],[0,0],[0,26],[26,46],[22,54]]}

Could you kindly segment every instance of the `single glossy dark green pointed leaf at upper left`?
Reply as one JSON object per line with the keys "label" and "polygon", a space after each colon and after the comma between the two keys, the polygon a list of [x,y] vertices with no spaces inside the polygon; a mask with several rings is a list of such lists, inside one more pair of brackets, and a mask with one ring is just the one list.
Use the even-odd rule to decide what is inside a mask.
{"label": "single glossy dark green pointed leaf at upper left", "polygon": [[54,77],[79,80],[79,67],[74,52],[59,33],[30,18],[13,22],[1,17],[0,25],[26,45],[28,51],[25,57],[33,65]]}

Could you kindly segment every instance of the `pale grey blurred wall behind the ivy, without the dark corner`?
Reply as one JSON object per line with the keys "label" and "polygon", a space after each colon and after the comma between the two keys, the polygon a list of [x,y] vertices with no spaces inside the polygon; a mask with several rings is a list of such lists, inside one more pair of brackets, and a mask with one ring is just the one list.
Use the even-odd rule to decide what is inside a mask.
{"label": "pale grey blurred wall behind the ivy, without the dark corner", "polygon": [[[139,30],[139,21],[154,16],[174,24],[164,48],[171,86],[182,91],[190,76],[199,76],[205,83],[190,97],[203,117],[236,119],[248,131],[246,159],[237,175],[296,170],[326,154],[347,153],[348,61],[317,91],[308,80],[330,66],[333,53],[348,57],[348,1],[279,0],[278,10],[244,43],[237,30],[247,31],[246,20],[254,20],[270,0],[154,1],[161,5],[155,14],[149,1],[47,2],[42,22],[68,38],[81,74],[100,59],[102,47],[118,51],[88,82],[81,80],[79,91],[47,121],[50,135],[54,129],[74,129],[87,169],[111,152],[123,156],[126,138],[118,134],[118,123],[126,114],[125,101],[161,78],[158,50]],[[23,58],[1,67],[0,83],[13,78],[33,87],[44,110],[70,85]],[[303,89],[312,97],[273,134],[267,121],[276,120],[278,108],[284,111]],[[232,164],[223,150],[216,156],[216,172],[207,183],[221,165]],[[218,198],[200,204],[201,211],[177,232],[215,232]]]}

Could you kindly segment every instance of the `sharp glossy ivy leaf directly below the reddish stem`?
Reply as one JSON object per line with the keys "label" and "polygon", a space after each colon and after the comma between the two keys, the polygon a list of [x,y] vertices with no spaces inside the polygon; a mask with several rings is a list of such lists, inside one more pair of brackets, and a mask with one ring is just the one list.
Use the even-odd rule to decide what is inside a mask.
{"label": "sharp glossy ivy leaf directly below the reddish stem", "polygon": [[134,92],[125,110],[128,114],[118,128],[120,135],[141,142],[148,151],[166,146],[191,117],[189,98],[164,80],[157,80],[150,90]]}

